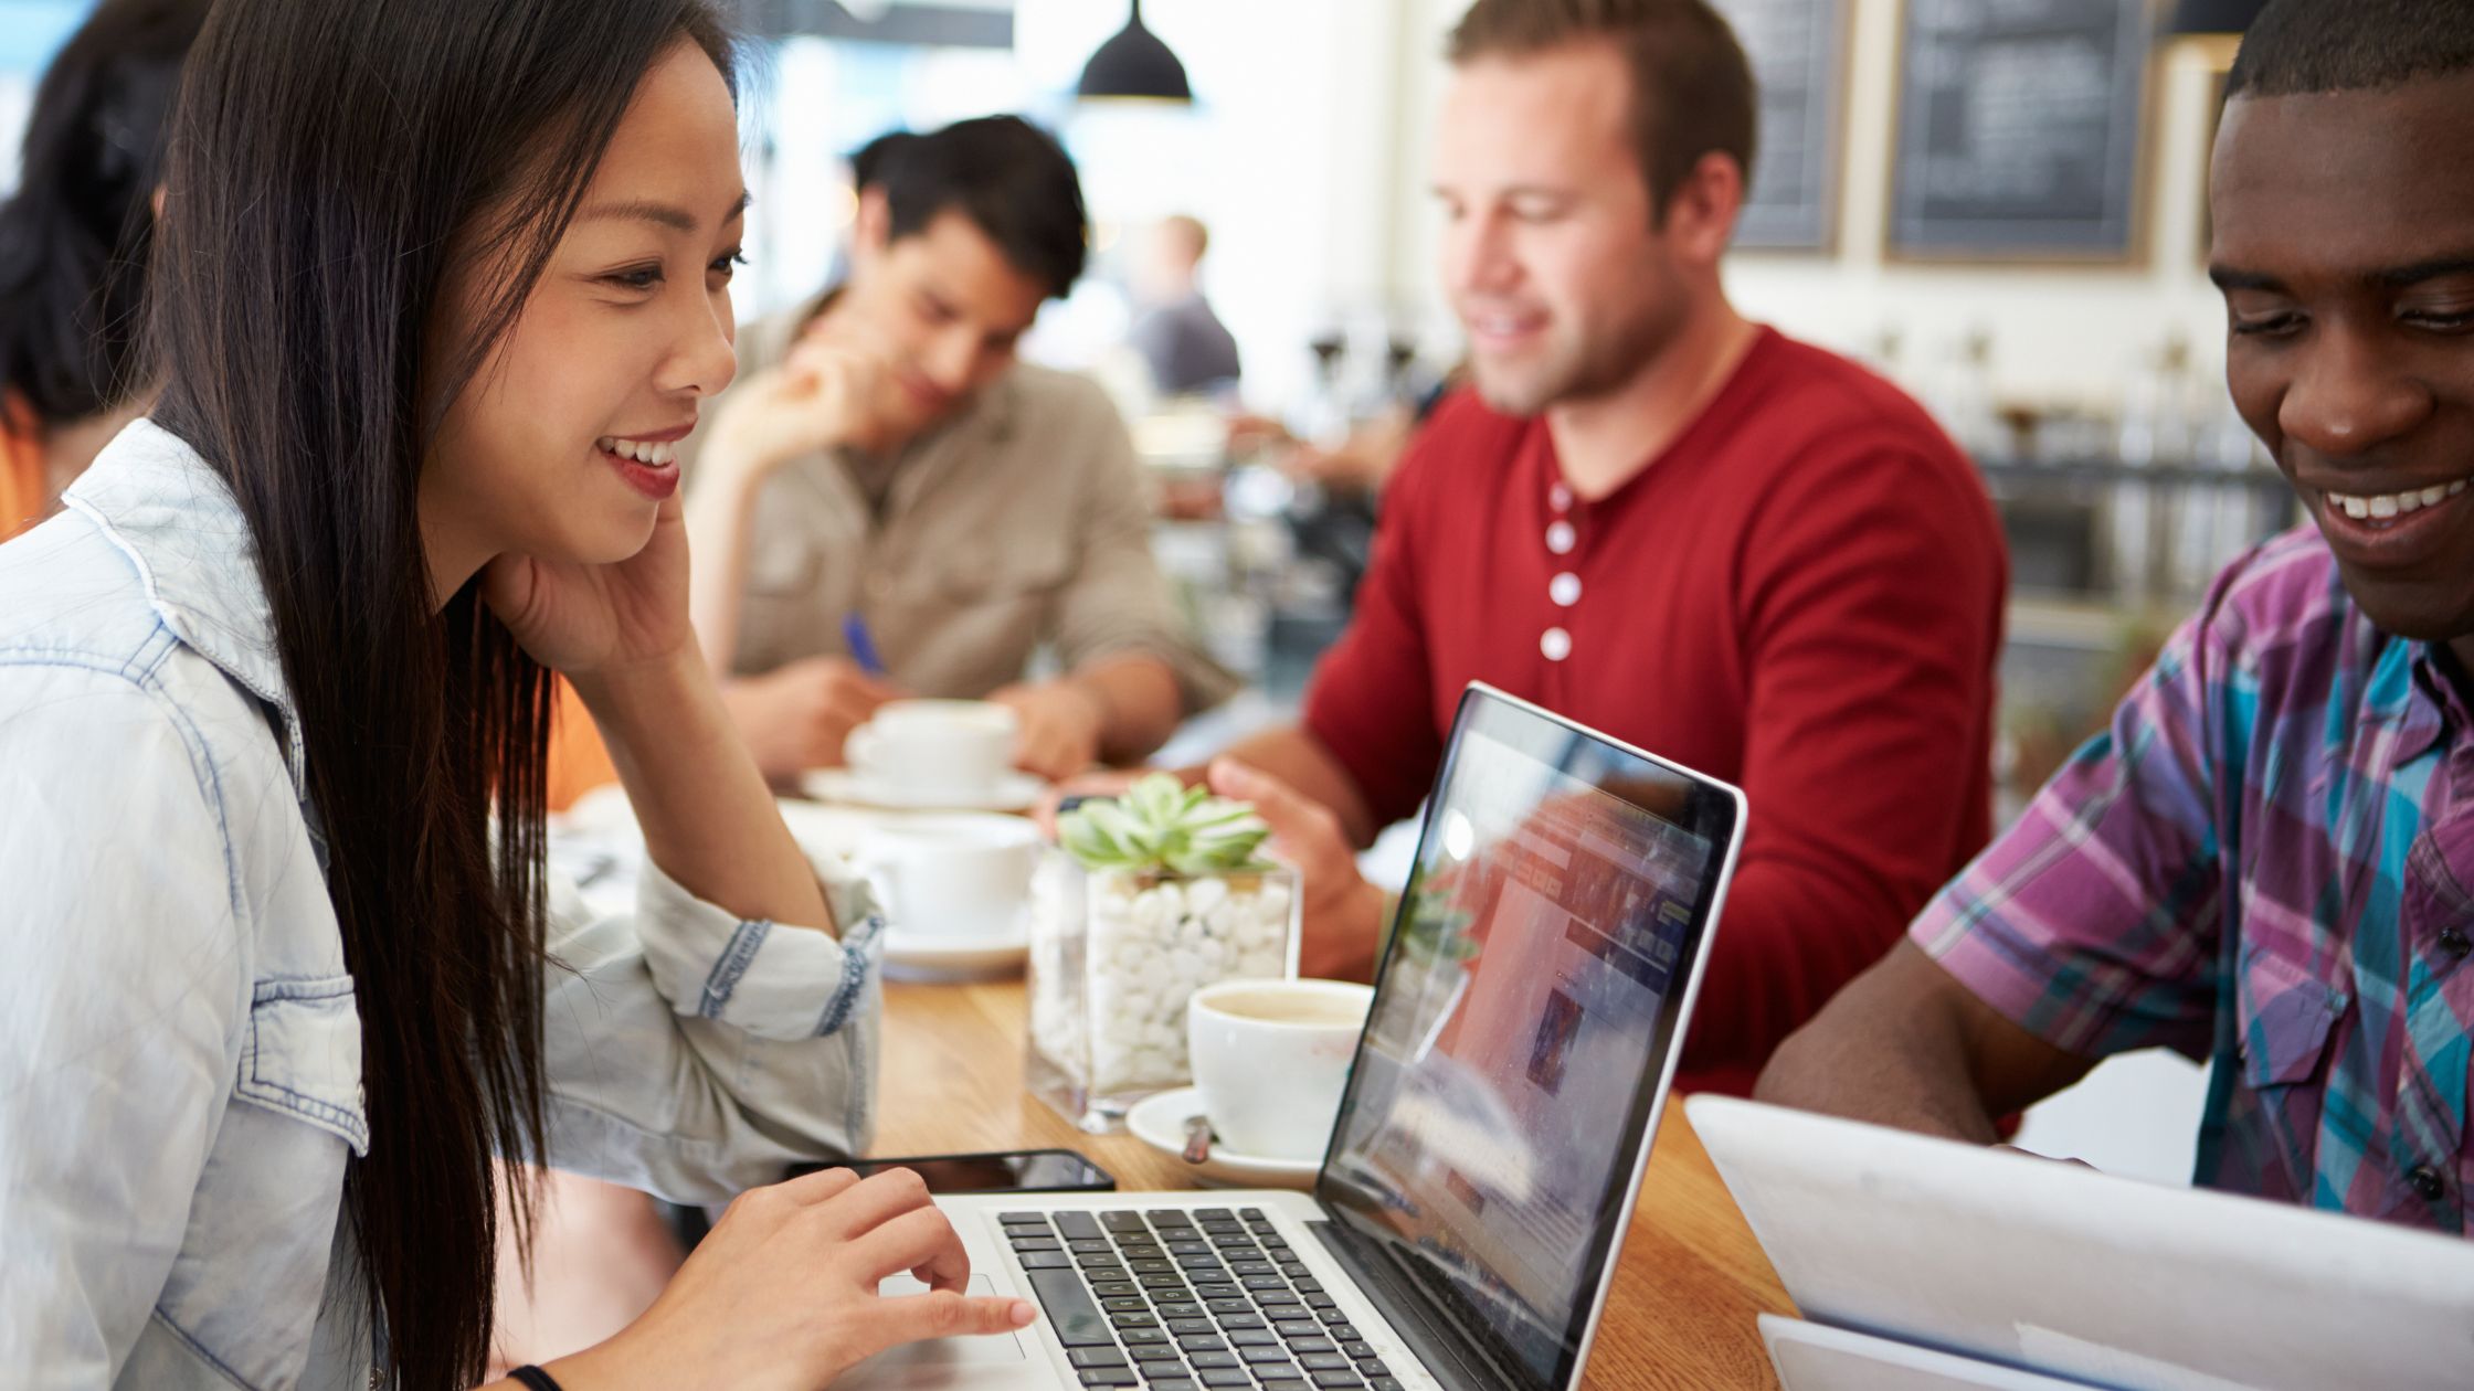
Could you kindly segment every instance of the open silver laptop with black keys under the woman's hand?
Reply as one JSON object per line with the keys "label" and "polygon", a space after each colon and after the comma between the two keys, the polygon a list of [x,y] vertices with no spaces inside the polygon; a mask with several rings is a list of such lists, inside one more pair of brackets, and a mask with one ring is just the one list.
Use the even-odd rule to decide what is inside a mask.
{"label": "open silver laptop with black keys under the woman's hand", "polygon": [[940,1198],[1044,1317],[836,1386],[1578,1386],[1742,824],[1470,686],[1314,1191]]}

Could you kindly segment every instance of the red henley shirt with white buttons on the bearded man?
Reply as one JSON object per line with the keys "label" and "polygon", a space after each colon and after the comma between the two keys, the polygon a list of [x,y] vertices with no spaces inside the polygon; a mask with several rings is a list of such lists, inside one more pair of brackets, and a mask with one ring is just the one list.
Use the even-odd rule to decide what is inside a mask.
{"label": "red henley shirt with white buttons on the bearded man", "polygon": [[1378,822],[1425,797],[1470,681],[1744,787],[1677,1082],[1744,1094],[1989,839],[2006,569],[1932,418],[1771,329],[1596,502],[1541,418],[1460,394],[1385,490],[1306,728]]}

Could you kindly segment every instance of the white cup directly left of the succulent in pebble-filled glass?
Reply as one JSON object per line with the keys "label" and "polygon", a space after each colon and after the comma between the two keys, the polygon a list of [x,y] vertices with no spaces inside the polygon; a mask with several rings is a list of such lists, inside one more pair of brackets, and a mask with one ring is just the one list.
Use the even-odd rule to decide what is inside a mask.
{"label": "white cup directly left of the succulent in pebble-filled glass", "polygon": [[920,817],[868,832],[858,866],[896,928],[992,938],[1029,903],[1042,844],[1039,827],[1014,817]]}

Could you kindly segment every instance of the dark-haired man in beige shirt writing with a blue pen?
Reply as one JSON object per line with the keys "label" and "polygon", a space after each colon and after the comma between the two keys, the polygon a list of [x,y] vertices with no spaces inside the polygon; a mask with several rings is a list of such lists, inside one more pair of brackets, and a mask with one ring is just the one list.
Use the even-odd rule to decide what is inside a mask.
{"label": "dark-haired man in beige shirt writing with a blue pen", "polygon": [[[1141,760],[1235,681],[1185,639],[1116,406],[1014,351],[1084,272],[1074,161],[985,116],[881,136],[851,173],[849,277],[747,327],[690,441],[695,624],[730,713],[777,785],[841,765],[898,696],[1009,705],[1042,777]],[[1059,673],[1032,678],[1042,648]],[[606,782],[589,725],[564,730],[554,782]]]}

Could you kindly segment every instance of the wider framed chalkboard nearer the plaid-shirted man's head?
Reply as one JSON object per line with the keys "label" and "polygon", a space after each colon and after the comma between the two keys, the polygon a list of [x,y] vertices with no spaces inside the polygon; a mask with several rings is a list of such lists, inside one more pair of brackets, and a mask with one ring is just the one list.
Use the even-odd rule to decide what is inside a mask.
{"label": "wider framed chalkboard nearer the plaid-shirted man's head", "polygon": [[1907,0],[1890,255],[2128,260],[2147,0]]}

